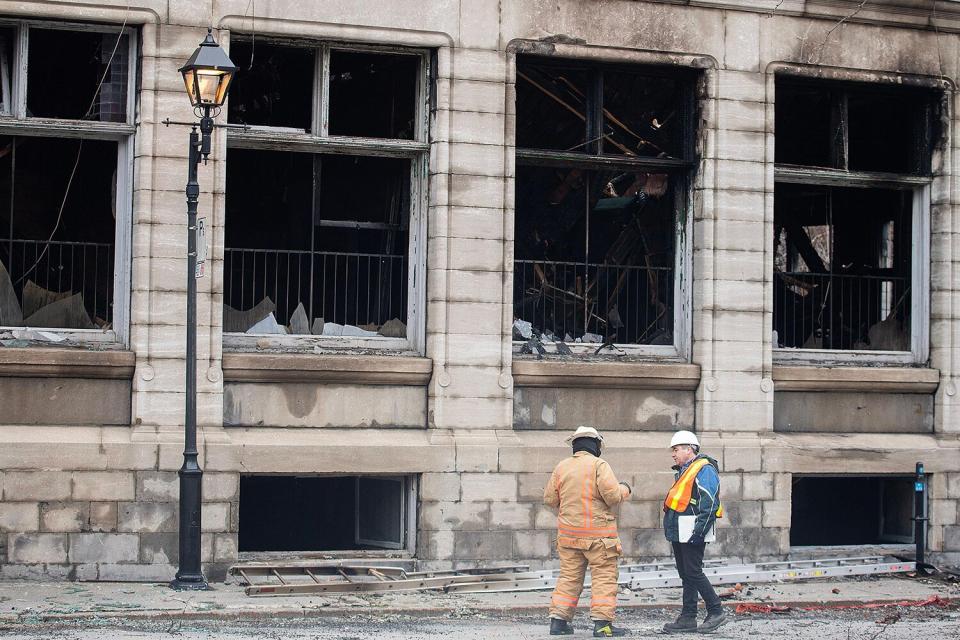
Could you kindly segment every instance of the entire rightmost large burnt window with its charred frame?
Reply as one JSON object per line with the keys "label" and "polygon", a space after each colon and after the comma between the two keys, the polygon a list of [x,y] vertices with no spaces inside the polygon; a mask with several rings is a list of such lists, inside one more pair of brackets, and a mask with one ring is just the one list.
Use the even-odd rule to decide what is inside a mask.
{"label": "entire rightmost large burnt window with its charred frame", "polygon": [[937,94],[775,82],[775,359],[925,362]]}

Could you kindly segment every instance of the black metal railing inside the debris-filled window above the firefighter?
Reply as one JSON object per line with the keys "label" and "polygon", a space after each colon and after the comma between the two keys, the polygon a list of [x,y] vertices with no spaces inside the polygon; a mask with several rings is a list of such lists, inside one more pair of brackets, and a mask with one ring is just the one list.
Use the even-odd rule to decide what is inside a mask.
{"label": "black metal railing inside the debris-filled window above the firefighter", "polygon": [[514,316],[558,340],[673,344],[673,268],[516,260]]}

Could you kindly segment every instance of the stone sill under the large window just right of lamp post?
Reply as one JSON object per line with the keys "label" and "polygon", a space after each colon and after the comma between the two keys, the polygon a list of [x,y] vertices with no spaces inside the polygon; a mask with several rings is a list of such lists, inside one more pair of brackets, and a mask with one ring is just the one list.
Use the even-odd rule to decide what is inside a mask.
{"label": "stone sill under the large window just right of lamp post", "polygon": [[225,353],[225,382],[426,386],[433,361],[414,356]]}

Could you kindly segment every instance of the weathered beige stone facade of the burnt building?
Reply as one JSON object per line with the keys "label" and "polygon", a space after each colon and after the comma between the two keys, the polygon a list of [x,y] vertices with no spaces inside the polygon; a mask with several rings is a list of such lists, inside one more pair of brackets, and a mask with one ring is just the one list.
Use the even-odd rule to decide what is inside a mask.
{"label": "weathered beige stone facade of the burnt building", "polygon": [[[555,566],[556,516],[541,502],[543,487],[569,451],[563,437],[581,423],[604,429],[605,457],[634,488],[633,500],[619,513],[625,561],[670,555],[661,528],[661,500],[672,482],[666,445],[672,430],[686,427],[701,435],[705,452],[721,467],[727,514],[708,552],[712,557],[755,561],[790,553],[793,486],[799,475],[910,475],[918,460],[932,474],[929,551],[934,556],[960,554],[960,372],[954,369],[960,362],[955,344],[960,336],[955,285],[960,233],[950,196],[958,172],[950,152],[960,149],[953,139],[955,109],[939,114],[940,137],[934,141],[930,171],[900,185],[905,202],[914,202],[905,208],[910,228],[923,232],[930,245],[928,250],[926,240],[905,243],[923,245],[911,255],[911,273],[918,284],[929,283],[929,296],[924,292],[922,297],[929,305],[910,305],[909,324],[918,331],[916,344],[929,347],[929,354],[892,356],[873,348],[853,358],[843,350],[816,351],[807,358],[811,350],[781,350],[777,342],[782,336],[773,335],[782,313],[775,305],[789,298],[807,306],[822,292],[811,294],[795,284],[784,289],[781,276],[775,275],[782,267],[774,264],[781,255],[781,226],[775,225],[784,210],[777,200],[781,183],[810,180],[782,162],[778,166],[790,131],[777,122],[778,80],[804,76],[810,86],[830,80],[843,86],[920,84],[938,92],[943,103],[953,100],[953,90],[943,87],[960,82],[957,56],[937,54],[960,49],[960,34],[929,29],[929,11],[918,3],[870,3],[869,11],[842,25],[829,3],[805,3],[802,14],[768,18],[757,13],[757,3],[746,0],[609,0],[589,3],[589,10],[582,0],[273,0],[254,3],[251,15],[243,17],[233,9],[224,13],[225,6],[235,3],[207,0],[167,3],[168,10],[159,14],[135,7],[126,11],[117,4],[4,3],[5,21],[95,21],[98,28],[126,22],[137,41],[138,59],[131,69],[138,77],[131,85],[135,94],[129,96],[136,105],[130,125],[61,123],[71,129],[65,136],[71,140],[94,128],[103,134],[109,126],[103,135],[121,149],[113,199],[117,206],[115,211],[107,207],[104,218],[109,221],[112,214],[117,225],[111,255],[120,293],[110,301],[114,326],[97,333],[107,343],[91,345],[84,342],[89,335],[74,334],[66,343],[44,343],[43,348],[0,347],[0,578],[164,581],[176,570],[177,469],[185,404],[183,182],[189,130],[161,122],[191,118],[176,69],[209,24],[217,25],[218,40],[235,53],[245,46],[243,40],[249,42],[255,25],[258,32],[270,34],[271,46],[287,40],[293,47],[316,45],[320,50],[330,43],[334,49],[401,48],[423,53],[431,68],[423,76],[430,83],[423,87],[423,103],[413,109],[423,117],[412,116],[419,129],[428,129],[422,137],[404,131],[400,141],[361,140],[359,134],[349,141],[320,140],[324,127],[335,129],[341,114],[319,102],[311,106],[321,122],[308,116],[301,133],[217,128],[214,134],[211,161],[200,169],[209,272],[197,281],[199,447],[205,471],[202,560],[208,577],[222,576],[241,555],[241,474],[416,477],[412,551],[425,568],[521,562]],[[944,25],[960,24],[960,9],[944,6],[948,4],[940,3],[938,19]],[[625,24],[643,28],[624,29]],[[826,44],[818,45],[821,41]],[[69,58],[74,52],[64,53]],[[657,317],[642,324],[673,319],[670,330],[657,328],[652,338],[657,344],[621,345],[622,353],[605,349],[599,355],[550,353],[543,360],[518,353],[521,345],[514,343],[511,327],[531,299],[560,296],[559,306],[578,310],[590,301],[595,307],[590,313],[605,322],[610,317],[604,305],[609,306],[614,287],[598,293],[590,278],[581,277],[574,278],[569,291],[553,291],[547,285],[557,282],[543,271],[527,290],[518,291],[517,260],[530,257],[530,245],[547,247],[538,259],[553,255],[568,241],[558,240],[566,235],[564,226],[579,225],[588,233],[578,236],[576,246],[589,254],[590,263],[604,262],[604,255],[594,256],[603,253],[595,250],[598,239],[611,229],[619,233],[617,225],[629,222],[627,217],[602,218],[585,203],[574,207],[570,200],[561,202],[565,196],[549,183],[569,186],[569,178],[601,176],[603,184],[584,180],[570,193],[609,195],[618,188],[616,180],[606,184],[609,176],[629,175],[636,168],[632,161],[620,163],[624,157],[609,153],[605,140],[605,155],[590,160],[581,175],[573,174],[568,165],[579,163],[586,146],[597,142],[587,142],[580,133],[569,141],[545,141],[563,145],[556,151],[566,154],[559,162],[564,166],[547,166],[542,148],[528,149],[531,137],[537,137],[531,135],[536,125],[566,122],[580,132],[581,118],[587,117],[535,87],[531,93],[529,80],[518,73],[528,54],[528,61],[545,66],[557,62],[557,68],[590,68],[586,75],[598,79],[601,68],[623,77],[631,75],[625,70],[656,68],[690,78],[695,101],[691,130],[679,132],[694,147],[685,156],[690,163],[665,160],[672,163],[670,186],[681,188],[653,202],[639,220],[646,234],[644,216],[662,210],[672,216],[666,227],[676,232],[672,242],[655,243],[673,253],[664,254],[662,266],[648,269],[643,279],[648,287],[656,281],[667,296],[657,301],[665,307],[654,313]],[[238,75],[237,82],[242,78]],[[318,93],[322,84],[313,83]],[[322,91],[335,102],[336,89],[331,84]],[[404,95],[415,93],[408,89]],[[563,92],[576,96],[574,90]],[[557,123],[524,116],[519,103],[531,96],[544,101],[543,117],[556,117]],[[111,94],[110,100],[117,97]],[[605,134],[609,126],[618,126],[609,121],[614,115],[633,132],[626,136],[631,144],[654,143],[659,149],[669,142],[669,136],[634,137],[662,137],[679,115],[654,124],[645,111],[616,105],[612,94],[607,97],[604,107],[614,105],[610,114],[596,110],[598,117],[607,118]],[[550,109],[559,115],[550,115]],[[219,116],[219,123],[227,121],[229,111]],[[25,117],[4,122],[23,130],[7,133],[24,139],[40,133],[32,113],[20,115]],[[831,117],[828,113],[825,121]],[[59,135],[46,124],[38,126],[45,135]],[[246,133],[250,135],[244,138]],[[619,142],[622,134],[609,135]],[[116,138],[123,140],[115,143]],[[856,164],[858,143],[851,144],[846,150]],[[632,147],[631,153],[648,155],[653,162],[663,159],[652,147],[641,147]],[[312,162],[308,156],[316,153],[328,163],[342,152],[340,159],[352,162],[372,148],[378,162],[411,167],[384,214],[384,221],[392,220],[400,210],[409,210],[408,219],[387,232],[358,232],[363,238],[389,235],[404,253],[407,271],[395,282],[406,285],[398,285],[397,292],[403,292],[409,317],[397,320],[408,330],[408,343],[400,346],[403,338],[331,343],[329,336],[225,334],[223,306],[229,287],[236,286],[227,259],[228,251],[236,249],[228,246],[228,238],[236,237],[236,228],[231,229],[236,217],[231,222],[228,215],[231,159],[263,152]],[[317,178],[318,189],[326,188],[331,174],[317,167],[307,175]],[[369,181],[370,188],[354,190],[357,202],[376,197],[383,186],[373,173],[358,177]],[[529,231],[534,195],[525,176],[533,173],[546,176],[538,184],[549,197],[534,213],[549,221],[542,227],[545,233]],[[830,174],[829,180],[842,181],[841,173]],[[307,229],[315,226],[309,203],[326,203],[328,194],[307,190],[304,200],[291,185],[265,186],[277,187],[288,204],[307,203],[306,208],[281,207],[276,229],[293,229],[302,215]],[[258,239],[260,232],[258,227],[250,235]],[[271,233],[262,232],[264,242],[272,242]],[[878,238],[870,241],[867,253],[883,244]],[[645,239],[648,247],[653,240]],[[893,244],[899,250],[901,243],[894,239]],[[342,250],[362,252],[358,247]],[[639,250],[631,251],[630,260],[618,267],[628,262],[631,268],[651,266],[643,264]],[[2,255],[0,251],[0,259]],[[581,268],[585,257],[573,263]],[[876,262],[866,253],[860,258],[857,264]],[[848,260],[838,257],[839,262]],[[349,277],[362,279],[358,273],[351,265]],[[329,281],[326,287],[325,296],[342,293],[333,293]],[[624,317],[631,313],[627,306],[650,297],[643,291],[630,296],[619,309]],[[0,305],[5,300],[0,281]],[[273,302],[278,308],[284,304]],[[353,304],[362,306],[358,299]],[[249,308],[246,302],[244,306]],[[0,315],[6,308],[0,308]],[[897,314],[903,311],[896,309]],[[891,309],[885,313],[899,318]],[[577,316],[575,324],[580,322],[583,317]],[[0,329],[4,344],[6,332],[6,327]],[[82,348],[74,348],[77,342]],[[586,345],[575,348],[585,350]],[[296,360],[283,369],[273,358]],[[524,372],[531,363],[539,373]],[[628,373],[616,369],[616,375],[597,375],[608,367],[624,367]],[[883,407],[897,411],[884,412]],[[873,419],[878,412],[885,419]]]}

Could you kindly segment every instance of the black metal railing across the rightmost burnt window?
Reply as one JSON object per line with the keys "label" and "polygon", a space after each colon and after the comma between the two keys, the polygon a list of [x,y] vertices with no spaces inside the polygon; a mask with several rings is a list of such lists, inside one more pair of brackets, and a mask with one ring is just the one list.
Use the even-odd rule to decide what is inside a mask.
{"label": "black metal railing across the rightmost burnt window", "polygon": [[903,276],[774,273],[776,346],[910,350],[910,280]]}

